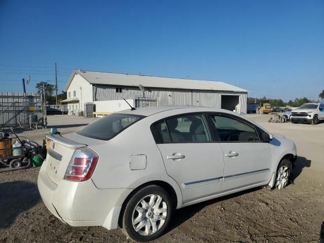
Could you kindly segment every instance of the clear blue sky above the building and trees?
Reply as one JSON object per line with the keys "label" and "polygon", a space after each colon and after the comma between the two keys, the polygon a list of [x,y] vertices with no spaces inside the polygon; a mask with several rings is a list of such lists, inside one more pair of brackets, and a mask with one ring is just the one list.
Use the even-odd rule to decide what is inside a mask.
{"label": "clear blue sky above the building and trees", "polygon": [[[72,69],[218,80],[249,97],[318,99],[324,1],[0,0],[0,91]],[[185,80],[184,80],[185,82]]]}

